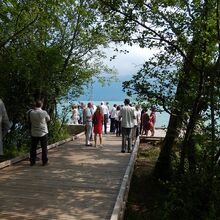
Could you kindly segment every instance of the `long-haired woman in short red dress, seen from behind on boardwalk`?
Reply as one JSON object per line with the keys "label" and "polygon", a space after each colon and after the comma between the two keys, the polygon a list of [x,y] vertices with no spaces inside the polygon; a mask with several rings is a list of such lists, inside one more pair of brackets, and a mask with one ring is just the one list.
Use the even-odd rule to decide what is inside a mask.
{"label": "long-haired woman in short red dress, seen from behind on boardwalk", "polygon": [[102,127],[104,122],[104,115],[102,108],[97,106],[95,113],[93,114],[93,132],[94,132],[94,141],[95,147],[97,147],[97,136],[99,135],[100,147],[102,147]]}

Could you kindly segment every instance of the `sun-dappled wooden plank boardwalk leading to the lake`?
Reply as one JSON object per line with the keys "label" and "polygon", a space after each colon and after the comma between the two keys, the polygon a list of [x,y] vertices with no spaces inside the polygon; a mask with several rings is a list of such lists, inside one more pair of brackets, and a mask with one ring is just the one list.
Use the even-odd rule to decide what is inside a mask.
{"label": "sun-dappled wooden plank boardwalk leading to the lake", "polygon": [[21,161],[0,170],[1,220],[110,219],[131,154],[121,137],[104,136],[104,148],[84,136],[49,150],[49,165]]}

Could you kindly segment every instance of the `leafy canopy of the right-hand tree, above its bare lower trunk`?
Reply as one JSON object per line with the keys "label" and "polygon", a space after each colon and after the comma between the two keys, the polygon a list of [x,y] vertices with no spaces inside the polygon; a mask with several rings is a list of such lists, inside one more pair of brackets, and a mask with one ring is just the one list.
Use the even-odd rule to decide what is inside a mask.
{"label": "leafy canopy of the right-hand tree, above its bare lower trunk", "polygon": [[188,111],[198,92],[201,68],[208,68],[218,55],[214,3],[106,0],[100,2],[100,10],[113,40],[159,50],[131,80],[124,82],[128,95],[149,99],[171,112],[174,107],[181,108],[176,88],[179,81],[184,81],[178,98]]}

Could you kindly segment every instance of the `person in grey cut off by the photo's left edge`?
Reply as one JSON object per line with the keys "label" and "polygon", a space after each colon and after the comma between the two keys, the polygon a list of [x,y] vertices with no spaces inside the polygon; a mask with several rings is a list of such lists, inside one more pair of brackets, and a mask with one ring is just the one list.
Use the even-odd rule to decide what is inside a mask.
{"label": "person in grey cut off by the photo's left edge", "polygon": [[10,122],[8,114],[5,108],[4,102],[0,99],[0,159],[3,159],[3,137],[8,133],[10,129]]}

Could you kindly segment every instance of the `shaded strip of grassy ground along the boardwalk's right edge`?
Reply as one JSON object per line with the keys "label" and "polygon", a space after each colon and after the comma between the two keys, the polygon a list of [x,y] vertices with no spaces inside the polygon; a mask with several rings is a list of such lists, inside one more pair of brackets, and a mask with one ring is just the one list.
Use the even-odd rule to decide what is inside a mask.
{"label": "shaded strip of grassy ground along the boardwalk's right edge", "polygon": [[159,145],[140,144],[124,220],[162,219],[161,205],[166,202],[168,187],[152,175],[159,152]]}

